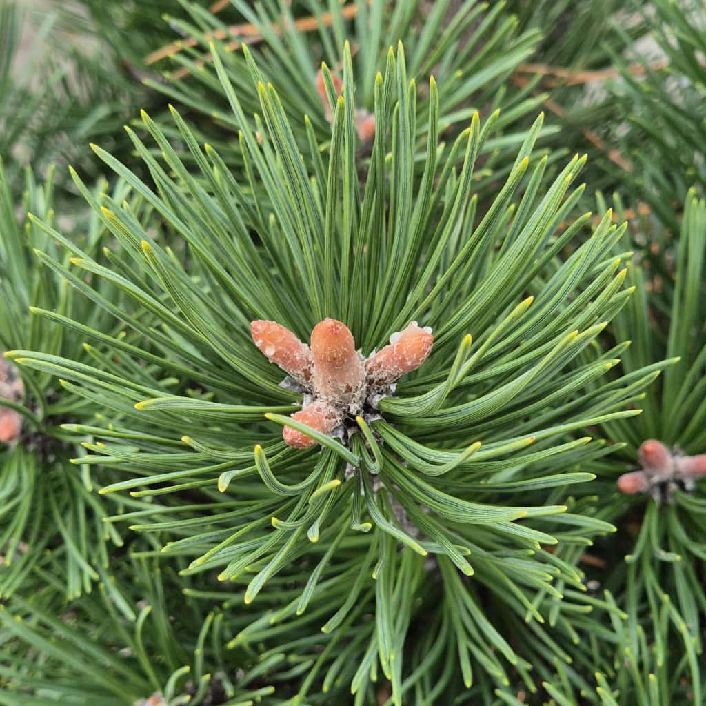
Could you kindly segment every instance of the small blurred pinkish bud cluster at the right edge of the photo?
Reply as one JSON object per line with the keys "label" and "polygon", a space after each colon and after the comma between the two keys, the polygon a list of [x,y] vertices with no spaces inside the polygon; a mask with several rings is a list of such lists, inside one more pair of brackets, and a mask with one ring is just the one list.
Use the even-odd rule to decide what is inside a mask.
{"label": "small blurred pinkish bud cluster at the right edge of the photo", "polygon": [[657,439],[647,439],[640,445],[638,456],[642,468],[623,473],[618,478],[618,490],[621,493],[647,493],[660,486],[666,486],[670,491],[678,487],[678,484],[691,490],[698,479],[706,477],[706,453],[686,456],[670,451]]}

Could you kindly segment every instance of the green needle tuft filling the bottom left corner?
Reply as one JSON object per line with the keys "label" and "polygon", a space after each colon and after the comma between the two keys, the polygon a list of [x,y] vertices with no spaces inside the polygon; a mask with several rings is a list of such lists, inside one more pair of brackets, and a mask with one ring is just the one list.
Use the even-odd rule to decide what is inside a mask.
{"label": "green needle tuft filling the bottom left corner", "polygon": [[225,614],[194,599],[174,572],[162,572],[149,549],[132,551],[121,565],[80,602],[67,604],[47,583],[31,599],[14,596],[0,607],[0,703],[235,706],[275,692],[262,683],[272,660],[234,676]]}

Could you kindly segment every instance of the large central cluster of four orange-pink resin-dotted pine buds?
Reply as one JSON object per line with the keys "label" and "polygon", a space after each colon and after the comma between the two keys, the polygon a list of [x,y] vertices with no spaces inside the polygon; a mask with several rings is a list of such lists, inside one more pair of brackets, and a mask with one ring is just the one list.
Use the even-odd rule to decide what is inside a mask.
{"label": "large central cluster of four orange-pink resin-dotted pine buds", "polygon": [[[360,414],[370,400],[390,392],[398,378],[424,363],[434,338],[431,329],[412,321],[390,336],[390,345],[364,359],[353,334],[333,318],[325,318],[311,332],[311,348],[274,321],[250,324],[255,345],[308,393],[304,407],[292,419],[330,434],[346,417]],[[316,443],[306,434],[285,427],[285,442],[297,448]]]}

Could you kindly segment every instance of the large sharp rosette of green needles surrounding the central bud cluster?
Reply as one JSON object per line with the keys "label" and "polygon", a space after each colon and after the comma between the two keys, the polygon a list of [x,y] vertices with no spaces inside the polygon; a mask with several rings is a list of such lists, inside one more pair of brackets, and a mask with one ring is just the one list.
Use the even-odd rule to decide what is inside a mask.
{"label": "large sharp rosette of green needles surrounding the central bud cluster", "polygon": [[[421,607],[402,587],[421,587],[429,574],[448,607],[441,611],[445,618],[428,619],[451,630],[439,659],[458,659],[467,687],[473,656],[486,672],[483,682],[507,686],[507,662],[534,688],[532,664],[484,617],[477,591],[483,587],[505,604],[501,612],[515,616],[518,632],[531,630],[552,645],[541,624],[542,602],[533,604],[520,586],[549,600],[561,596],[553,580],[573,585],[579,605],[584,587],[576,570],[542,544],[560,538],[585,544],[613,529],[592,519],[589,508],[574,507],[564,489],[591,477],[567,473],[567,465],[605,453],[600,441],[579,431],[638,412],[624,407],[640,392],[642,376],[618,377],[587,391],[618,363],[615,350],[578,364],[627,300],[625,271],[611,254],[624,228],[606,215],[561,266],[552,266],[588,216],[557,232],[581,196],[582,187],[570,187],[583,160],[570,160],[546,191],[540,186],[546,160],[527,173],[541,119],[498,196],[478,214],[473,165],[496,116],[481,126],[474,114],[448,154],[440,155],[433,79],[425,166],[417,177],[410,169],[413,84],[401,46],[388,59],[385,77],[376,78],[376,140],[359,189],[352,62],[346,56],[328,164],[299,154],[277,92],[258,84],[266,132],[258,140],[244,131],[242,155],[246,173],[265,189],[254,202],[249,184],[229,172],[216,150],[201,148],[176,111],[177,130],[193,160],[203,164],[199,180],[146,114],[165,166],[131,136],[155,190],[95,148],[150,205],[157,227],[184,239],[187,249],[180,256],[162,245],[164,238],[150,237],[151,221],[129,204],[89,198],[116,239],[107,257],[120,263],[119,271],[70,244],[70,264],[44,260],[127,326],[128,340],[139,335],[140,344],[35,308],[113,353],[101,357],[102,365],[28,350],[9,355],[23,369],[60,376],[78,395],[100,398],[119,414],[121,421],[104,431],[71,427],[95,437],[83,444],[92,453],[81,460],[128,474],[101,493],[133,491],[135,499],[124,503],[136,510],[126,519],[138,517],[132,529],[157,537],[162,556],[179,562],[181,573],[217,570],[221,581],[244,590],[246,604],[279,585],[272,583],[277,575],[286,577],[294,594],[277,610],[277,621],[285,623],[283,630],[288,618],[323,625],[333,634],[332,652],[341,641],[337,628],[353,630],[366,614],[374,615],[357,638],[345,640],[347,654],[355,657],[347,661],[365,664],[367,673],[341,678],[344,688],[353,684],[364,697],[379,662],[391,680],[393,702],[401,702],[405,636]],[[220,57],[214,59],[233,112],[245,124]],[[456,172],[457,152],[464,157]],[[126,306],[102,297],[77,272],[121,289]],[[146,316],[136,316],[136,308]],[[370,400],[346,422],[345,443],[311,433],[323,449],[301,452],[279,440],[281,424],[296,424],[285,415],[297,409],[301,395],[280,385],[273,366],[253,357],[248,322],[278,321],[305,337],[325,316],[349,323],[364,352],[380,347],[410,318],[431,325],[436,340],[428,363],[400,383],[395,397],[377,409]],[[170,378],[150,374],[156,361]],[[186,386],[171,389],[184,376]],[[198,502],[184,505],[185,497]],[[316,570],[302,575],[301,561],[315,561]],[[507,582],[510,576],[518,585]],[[438,597],[433,604],[438,610]],[[459,605],[465,618],[449,623]],[[525,620],[530,628],[523,628]],[[262,622],[256,619],[230,644],[251,644]],[[326,657],[325,650],[302,683],[300,699]],[[341,661],[335,662],[339,668]]]}

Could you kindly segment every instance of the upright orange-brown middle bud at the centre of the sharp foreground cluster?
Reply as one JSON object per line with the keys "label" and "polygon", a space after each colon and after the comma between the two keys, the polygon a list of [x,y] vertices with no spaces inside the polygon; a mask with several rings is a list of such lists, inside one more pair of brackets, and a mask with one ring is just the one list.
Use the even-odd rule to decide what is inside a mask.
{"label": "upright orange-brown middle bud at the centre of the sharp foreground cluster", "polygon": [[363,366],[345,323],[325,318],[311,332],[313,385],[318,395],[345,403],[359,393]]}

